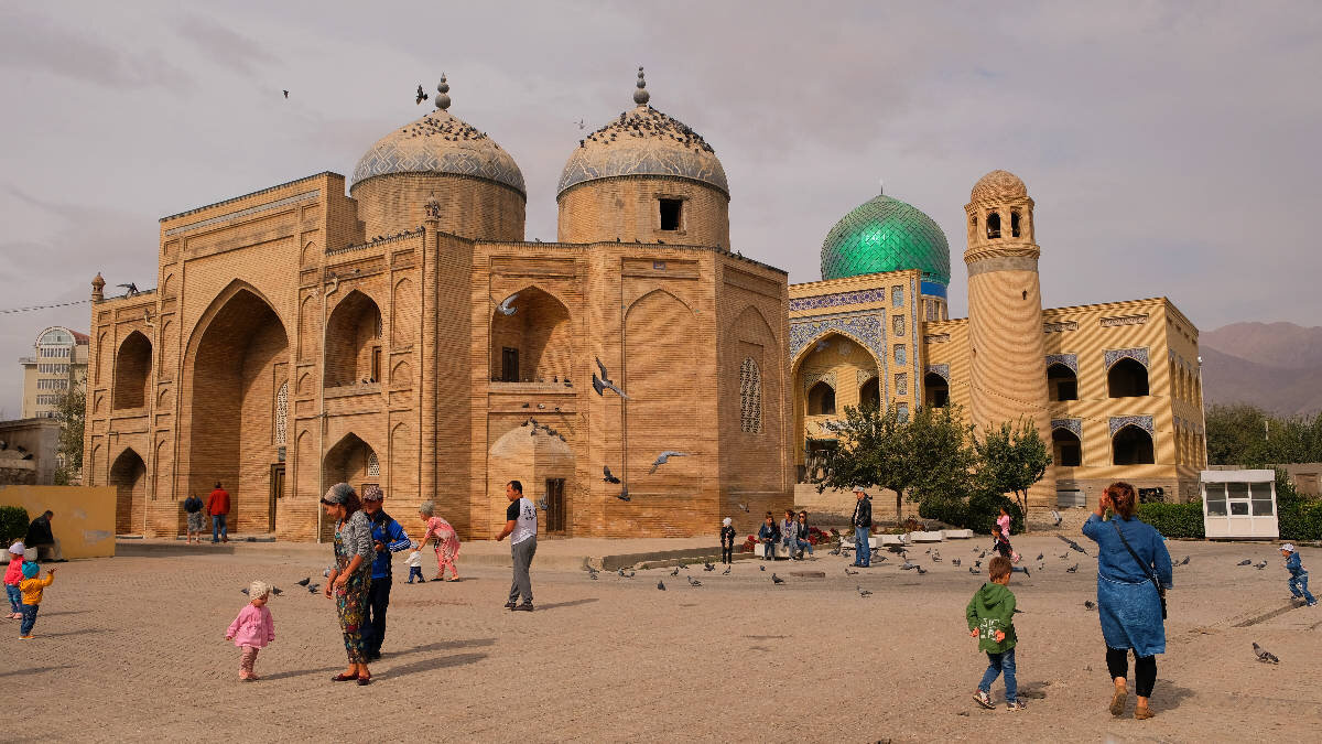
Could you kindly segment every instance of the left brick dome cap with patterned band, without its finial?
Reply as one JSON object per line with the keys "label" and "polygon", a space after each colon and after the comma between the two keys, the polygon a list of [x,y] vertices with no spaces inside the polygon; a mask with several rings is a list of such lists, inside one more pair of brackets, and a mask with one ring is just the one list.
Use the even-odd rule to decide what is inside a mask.
{"label": "left brick dome cap with patterned band, without its finial", "polygon": [[440,109],[371,146],[353,169],[349,191],[368,179],[390,173],[471,176],[505,184],[527,196],[524,173],[509,152],[501,150],[486,132]]}

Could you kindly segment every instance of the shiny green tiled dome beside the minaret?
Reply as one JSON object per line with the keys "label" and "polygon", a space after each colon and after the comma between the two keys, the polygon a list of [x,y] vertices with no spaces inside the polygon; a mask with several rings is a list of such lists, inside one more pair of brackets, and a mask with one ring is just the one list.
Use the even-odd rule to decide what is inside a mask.
{"label": "shiny green tiled dome beside the minaret", "polygon": [[822,241],[822,279],[917,269],[924,282],[951,283],[945,233],[920,209],[880,195],[845,214]]}

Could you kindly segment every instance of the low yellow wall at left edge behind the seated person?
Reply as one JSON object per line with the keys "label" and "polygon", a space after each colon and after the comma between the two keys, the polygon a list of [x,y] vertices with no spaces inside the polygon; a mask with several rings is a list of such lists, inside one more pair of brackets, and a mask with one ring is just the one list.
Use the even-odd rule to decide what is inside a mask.
{"label": "low yellow wall at left edge behind the seated person", "polygon": [[50,531],[66,559],[115,555],[115,488],[111,486],[0,486],[0,506],[21,506],[36,519],[50,510]]}

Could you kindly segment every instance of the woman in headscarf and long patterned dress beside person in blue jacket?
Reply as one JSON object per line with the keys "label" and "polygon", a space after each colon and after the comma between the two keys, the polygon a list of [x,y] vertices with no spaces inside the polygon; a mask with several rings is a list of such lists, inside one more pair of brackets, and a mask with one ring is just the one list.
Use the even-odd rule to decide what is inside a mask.
{"label": "woman in headscarf and long patterned dress beside person in blue jacket", "polygon": [[357,679],[370,684],[368,650],[362,641],[362,624],[368,616],[368,590],[371,588],[371,523],[362,511],[362,502],[353,486],[336,483],[321,496],[321,508],[334,519],[334,568],[327,577],[325,596],[334,596],[344,631],[344,650],[349,669],[332,676],[334,682]]}

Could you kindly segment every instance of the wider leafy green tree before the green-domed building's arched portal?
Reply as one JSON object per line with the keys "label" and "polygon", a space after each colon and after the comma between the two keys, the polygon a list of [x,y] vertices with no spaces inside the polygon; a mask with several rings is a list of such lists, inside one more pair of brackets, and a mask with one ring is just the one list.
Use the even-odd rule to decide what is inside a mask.
{"label": "wider leafy green tree before the green-domed building's arched portal", "polygon": [[912,420],[902,420],[895,405],[845,406],[845,421],[832,429],[841,445],[817,492],[857,485],[890,488],[899,519],[906,498],[951,496],[968,483],[970,429],[957,406],[919,408]]}

